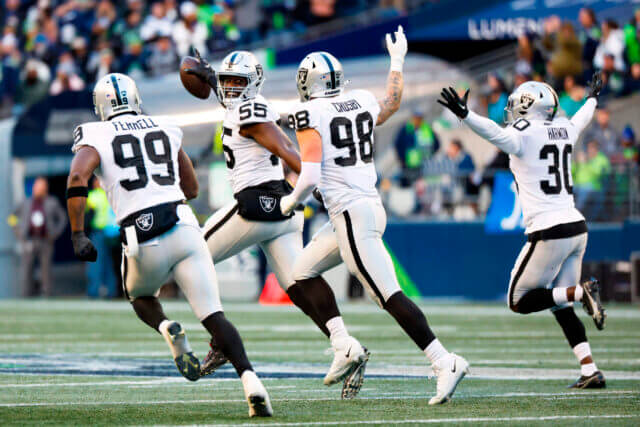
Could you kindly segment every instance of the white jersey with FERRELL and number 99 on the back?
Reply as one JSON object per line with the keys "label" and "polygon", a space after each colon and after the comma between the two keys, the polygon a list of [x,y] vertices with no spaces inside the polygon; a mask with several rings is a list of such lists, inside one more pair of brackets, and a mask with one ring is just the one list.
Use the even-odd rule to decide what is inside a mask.
{"label": "white jersey with FERRELL and number 99 on the back", "polygon": [[100,182],[120,223],[142,209],[184,200],[178,152],[182,130],[161,117],[126,114],[90,122],[73,131],[82,146],[100,155]]}

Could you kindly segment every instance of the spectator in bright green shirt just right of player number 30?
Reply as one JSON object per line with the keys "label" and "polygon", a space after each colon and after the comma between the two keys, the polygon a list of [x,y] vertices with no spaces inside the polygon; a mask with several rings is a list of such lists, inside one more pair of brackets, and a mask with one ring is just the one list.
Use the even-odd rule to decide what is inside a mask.
{"label": "spectator in bright green shirt just right of player number 30", "polygon": [[576,207],[587,219],[597,221],[603,210],[611,163],[597,141],[589,141],[586,154],[578,152],[576,160],[572,171]]}

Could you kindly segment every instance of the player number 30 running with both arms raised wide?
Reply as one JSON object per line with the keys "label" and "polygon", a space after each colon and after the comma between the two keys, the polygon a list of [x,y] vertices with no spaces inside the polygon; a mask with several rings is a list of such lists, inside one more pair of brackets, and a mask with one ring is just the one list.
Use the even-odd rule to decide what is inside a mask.
{"label": "player number 30 running with both arms raised wide", "polygon": [[595,74],[585,104],[568,119],[557,116],[558,96],[551,86],[525,82],[509,96],[504,129],[467,108],[468,90],[460,98],[445,88],[438,100],[509,154],[528,240],[511,271],[509,308],[521,314],[551,309],[580,362],[581,376],[573,388],[605,387],[584,325],[572,307],[574,301],[582,302],[596,327],[604,327],[598,282],[579,284],[587,225],[574,206],[571,184],[571,153],[591,121],[601,87],[600,75]]}

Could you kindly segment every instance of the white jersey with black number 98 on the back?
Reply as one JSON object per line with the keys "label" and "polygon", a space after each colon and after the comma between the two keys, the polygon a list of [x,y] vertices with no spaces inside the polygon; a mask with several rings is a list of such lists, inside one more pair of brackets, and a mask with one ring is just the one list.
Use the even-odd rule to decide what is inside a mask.
{"label": "white jersey with black number 98 on the back", "polygon": [[300,103],[289,116],[290,126],[315,129],[322,138],[318,188],[331,217],[363,197],[380,197],[373,163],[373,130],[379,113],[371,92],[353,90]]}

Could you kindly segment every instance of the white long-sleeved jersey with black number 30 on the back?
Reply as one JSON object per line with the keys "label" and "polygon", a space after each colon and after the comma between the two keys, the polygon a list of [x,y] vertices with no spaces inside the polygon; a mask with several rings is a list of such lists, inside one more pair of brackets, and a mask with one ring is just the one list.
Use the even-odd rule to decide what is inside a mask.
{"label": "white long-sleeved jersey with black number 30 on the back", "polygon": [[505,129],[472,111],[464,119],[476,133],[509,154],[527,234],[584,220],[574,205],[571,156],[595,107],[595,99],[590,98],[571,120],[519,119]]}

